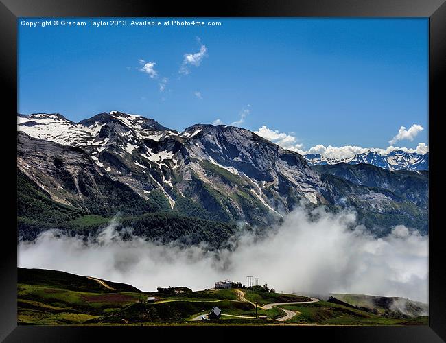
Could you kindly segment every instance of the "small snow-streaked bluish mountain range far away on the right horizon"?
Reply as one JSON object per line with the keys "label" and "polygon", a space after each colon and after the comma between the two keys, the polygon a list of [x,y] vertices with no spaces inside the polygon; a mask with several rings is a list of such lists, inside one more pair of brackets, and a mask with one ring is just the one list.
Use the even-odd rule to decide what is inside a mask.
{"label": "small snow-streaked bluish mountain range far away on the right horizon", "polygon": [[366,163],[387,170],[429,170],[429,152],[417,154],[416,152],[404,152],[393,150],[386,155],[368,151],[356,154],[349,158],[327,158],[320,154],[306,154],[305,158],[309,165],[335,165],[336,163],[349,163],[358,165]]}

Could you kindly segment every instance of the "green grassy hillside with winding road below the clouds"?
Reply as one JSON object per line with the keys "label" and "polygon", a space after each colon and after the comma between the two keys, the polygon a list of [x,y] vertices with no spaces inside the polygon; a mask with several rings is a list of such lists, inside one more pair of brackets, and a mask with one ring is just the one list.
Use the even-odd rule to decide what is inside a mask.
{"label": "green grassy hillside with winding road below the clouds", "polygon": [[[240,300],[235,289],[141,292],[131,285],[54,270],[19,268],[18,275],[19,324],[279,324],[276,319],[285,316],[283,309],[296,313],[287,324],[427,324],[427,317],[391,318],[325,301],[258,308],[258,315],[268,316],[259,320],[253,318],[254,305]],[[244,292],[259,303],[307,300],[294,294]],[[156,303],[145,303],[147,296],[155,296]],[[222,309],[220,320],[191,321],[215,306]]]}

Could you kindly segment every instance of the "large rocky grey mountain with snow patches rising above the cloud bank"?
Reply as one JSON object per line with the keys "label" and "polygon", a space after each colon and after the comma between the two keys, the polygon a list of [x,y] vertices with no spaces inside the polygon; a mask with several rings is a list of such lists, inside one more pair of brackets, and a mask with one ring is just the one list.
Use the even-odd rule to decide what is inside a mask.
{"label": "large rocky grey mountain with snow patches rising above the cloud bank", "polygon": [[[212,237],[218,233],[211,227],[229,235],[234,226],[227,225],[238,222],[280,222],[298,204],[355,209],[378,234],[397,224],[427,232],[426,171],[387,171],[372,163],[311,167],[309,156],[244,128],[196,124],[177,132],[117,111],[79,123],[60,114],[18,115],[18,128],[19,232],[25,236],[40,226],[79,224],[79,216],[120,212],[196,218],[202,222],[185,220],[178,235],[198,225]],[[163,218],[156,225],[172,233]]]}

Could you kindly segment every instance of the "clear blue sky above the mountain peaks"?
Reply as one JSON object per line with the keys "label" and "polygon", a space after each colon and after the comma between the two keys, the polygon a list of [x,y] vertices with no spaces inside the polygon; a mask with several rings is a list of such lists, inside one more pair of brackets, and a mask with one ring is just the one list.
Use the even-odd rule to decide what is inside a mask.
{"label": "clear blue sky above the mountain peaks", "polygon": [[270,137],[277,130],[276,140],[293,137],[302,150],[386,148],[404,126],[393,145],[427,145],[427,19],[212,20],[222,25],[28,27],[19,19],[19,113],[80,121],[121,110],[179,131],[243,114],[236,125],[265,126]]}

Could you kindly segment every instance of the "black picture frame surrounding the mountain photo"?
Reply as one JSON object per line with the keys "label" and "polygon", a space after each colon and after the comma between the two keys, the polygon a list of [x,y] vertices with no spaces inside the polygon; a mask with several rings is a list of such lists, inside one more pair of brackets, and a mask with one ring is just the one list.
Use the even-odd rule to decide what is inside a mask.
{"label": "black picture frame surrounding the mountain photo", "polygon": [[[300,0],[300,1],[224,1],[222,3],[167,3],[161,1],[119,0],[1,0],[1,75],[3,125],[3,227],[1,230],[1,320],[0,340],[5,342],[78,342],[143,339],[163,340],[183,335],[195,340],[237,340],[228,332],[249,333],[250,339],[273,333],[296,339],[324,339],[330,342],[445,342],[446,341],[446,260],[444,229],[441,223],[441,180],[437,167],[441,160],[441,133],[436,121],[445,113],[446,0]],[[143,17],[225,17],[225,16],[297,16],[297,17],[425,17],[429,18],[429,145],[430,145],[430,239],[429,239],[429,326],[414,327],[38,327],[17,326],[16,276],[16,117],[17,113],[17,18],[62,16],[143,16]],[[8,133],[8,134],[5,134]],[[8,153],[8,154],[6,154]],[[7,219],[5,221],[5,219]],[[249,331],[249,332],[248,332]],[[221,334],[220,334],[221,332]],[[130,335],[130,336],[129,336]]]}

